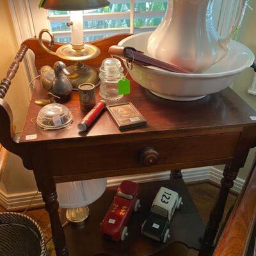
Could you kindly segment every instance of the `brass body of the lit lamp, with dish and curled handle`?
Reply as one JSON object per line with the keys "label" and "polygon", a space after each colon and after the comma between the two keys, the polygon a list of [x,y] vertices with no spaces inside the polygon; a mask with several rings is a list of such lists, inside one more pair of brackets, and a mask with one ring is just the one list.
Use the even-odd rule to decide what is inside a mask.
{"label": "brass body of the lit lamp, with dish and curled handle", "polygon": [[[51,36],[51,42],[49,44],[50,49],[44,45],[42,40],[42,35],[44,33]],[[92,83],[95,84],[95,86],[99,85],[100,79],[98,70],[96,68],[84,65],[82,62],[84,60],[91,60],[99,56],[100,49],[98,47],[91,44],[65,44],[59,47],[56,52],[51,51],[51,48],[54,45],[54,35],[49,29],[42,29],[39,33],[38,39],[41,47],[50,54],[56,55],[63,60],[76,61],[74,65],[67,67],[68,72],[70,72],[70,76],[68,76],[68,78],[70,79],[74,90],[77,90],[79,84],[82,83]]]}

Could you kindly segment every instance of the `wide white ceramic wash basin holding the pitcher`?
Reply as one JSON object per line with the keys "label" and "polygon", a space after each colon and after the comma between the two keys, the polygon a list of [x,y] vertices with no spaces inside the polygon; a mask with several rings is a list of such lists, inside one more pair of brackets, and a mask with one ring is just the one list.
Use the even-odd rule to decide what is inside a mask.
{"label": "wide white ceramic wash basin holding the pitcher", "polygon": [[[131,46],[148,55],[147,42],[151,33],[129,36],[118,45]],[[136,65],[135,63],[132,70],[129,70],[129,74],[134,81],[164,99],[201,99],[205,95],[220,92],[227,88],[234,83],[239,73],[252,66],[255,57],[250,49],[233,40],[229,47],[227,56],[202,74],[174,73],[156,67]]]}

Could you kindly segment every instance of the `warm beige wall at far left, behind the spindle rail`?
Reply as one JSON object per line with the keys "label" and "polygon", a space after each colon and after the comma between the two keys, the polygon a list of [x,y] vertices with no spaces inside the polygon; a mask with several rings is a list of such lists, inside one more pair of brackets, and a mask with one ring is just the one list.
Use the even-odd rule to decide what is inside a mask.
{"label": "warm beige wall at far left, behind the spindle rail", "polygon": [[[6,76],[6,71],[12,63],[15,54],[19,51],[19,45],[13,29],[12,19],[7,0],[0,1],[0,79]],[[12,81],[10,90],[4,98],[13,110],[16,131],[22,131],[26,111],[28,109],[27,82],[25,70],[20,65],[19,71]],[[36,190],[35,179],[31,171],[25,170],[19,157],[10,154],[3,179],[0,182],[0,191],[6,193],[20,193]]]}

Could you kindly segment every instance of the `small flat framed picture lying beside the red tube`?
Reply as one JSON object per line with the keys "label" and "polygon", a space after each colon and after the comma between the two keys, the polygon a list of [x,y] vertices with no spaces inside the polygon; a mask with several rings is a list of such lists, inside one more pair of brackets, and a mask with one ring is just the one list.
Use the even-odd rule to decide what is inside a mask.
{"label": "small flat framed picture lying beside the red tube", "polygon": [[107,109],[120,130],[145,125],[147,120],[131,102],[107,106]]}

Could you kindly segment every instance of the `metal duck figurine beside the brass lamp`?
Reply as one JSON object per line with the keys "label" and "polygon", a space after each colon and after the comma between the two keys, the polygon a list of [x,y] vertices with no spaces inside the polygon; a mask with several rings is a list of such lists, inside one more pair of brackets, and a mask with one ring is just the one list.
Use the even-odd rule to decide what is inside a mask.
{"label": "metal duck figurine beside the brass lamp", "polygon": [[67,102],[72,92],[72,84],[68,79],[68,72],[65,63],[57,61],[53,69],[50,66],[41,68],[41,83],[49,94],[56,99],[57,102]]}

